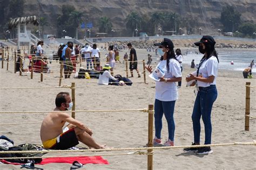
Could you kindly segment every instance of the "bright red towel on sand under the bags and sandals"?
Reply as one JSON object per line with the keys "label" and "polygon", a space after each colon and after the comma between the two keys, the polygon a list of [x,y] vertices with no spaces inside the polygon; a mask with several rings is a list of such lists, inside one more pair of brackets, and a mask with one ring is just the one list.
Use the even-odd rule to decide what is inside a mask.
{"label": "bright red towel on sand under the bags and sandals", "polygon": [[[73,161],[78,161],[81,164],[106,164],[108,165],[109,162],[106,159],[103,159],[100,156],[96,157],[65,157],[65,158],[44,158],[42,162],[40,162],[38,165],[44,165],[44,164],[51,164],[51,163],[67,163],[67,164],[72,164]],[[2,160],[4,164],[12,164],[12,165],[21,165],[19,163],[13,163],[13,162],[8,162],[6,160]]]}

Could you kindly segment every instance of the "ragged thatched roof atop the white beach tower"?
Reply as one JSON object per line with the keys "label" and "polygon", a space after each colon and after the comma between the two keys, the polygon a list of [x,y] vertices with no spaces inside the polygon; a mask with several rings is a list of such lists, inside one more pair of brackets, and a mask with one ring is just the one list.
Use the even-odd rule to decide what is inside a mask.
{"label": "ragged thatched roof atop the white beach tower", "polygon": [[28,17],[18,17],[18,18],[14,18],[11,19],[8,23],[8,29],[11,30],[13,28],[15,28],[18,24],[33,24],[38,26],[39,25],[39,21],[37,20],[36,16],[28,16]]}

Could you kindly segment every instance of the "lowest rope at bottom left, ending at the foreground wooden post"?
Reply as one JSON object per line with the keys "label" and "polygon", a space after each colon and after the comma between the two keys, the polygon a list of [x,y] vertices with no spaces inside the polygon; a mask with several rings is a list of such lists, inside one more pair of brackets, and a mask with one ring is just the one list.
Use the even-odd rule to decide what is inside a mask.
{"label": "lowest rope at bottom left, ending at the foreground wooden post", "polygon": [[[90,155],[68,155],[68,156],[48,156],[48,157],[18,157],[18,159],[37,159],[37,158],[66,158],[66,157],[96,157],[96,156],[115,156],[115,155],[153,155],[153,152],[129,152],[129,153],[112,153],[112,154],[90,154]],[[17,157],[1,158],[1,159],[17,159]]]}

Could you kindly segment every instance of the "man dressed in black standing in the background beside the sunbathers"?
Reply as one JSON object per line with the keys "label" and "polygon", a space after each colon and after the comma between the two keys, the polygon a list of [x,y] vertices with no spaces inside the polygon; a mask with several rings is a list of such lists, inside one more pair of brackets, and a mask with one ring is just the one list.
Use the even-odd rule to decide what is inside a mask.
{"label": "man dressed in black standing in the background beside the sunbathers", "polygon": [[138,59],[137,59],[137,54],[136,50],[132,47],[132,44],[129,42],[127,44],[128,48],[130,49],[130,71],[131,71],[131,77],[133,77],[133,70],[135,69],[139,75],[139,69],[138,69]]}

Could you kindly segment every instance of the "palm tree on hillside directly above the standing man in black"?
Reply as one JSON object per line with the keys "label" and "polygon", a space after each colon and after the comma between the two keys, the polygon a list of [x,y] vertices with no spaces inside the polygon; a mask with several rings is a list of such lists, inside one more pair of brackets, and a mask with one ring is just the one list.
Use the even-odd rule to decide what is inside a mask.
{"label": "palm tree on hillside directly above the standing man in black", "polygon": [[140,28],[141,22],[142,22],[142,18],[139,16],[137,12],[131,12],[126,17],[126,27],[131,30],[132,37],[134,36],[134,30]]}

